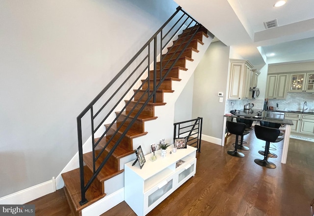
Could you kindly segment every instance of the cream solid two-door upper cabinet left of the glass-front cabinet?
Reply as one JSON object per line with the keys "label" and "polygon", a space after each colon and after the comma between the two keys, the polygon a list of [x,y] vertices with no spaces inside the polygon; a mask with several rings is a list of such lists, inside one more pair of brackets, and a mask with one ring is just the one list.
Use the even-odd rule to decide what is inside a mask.
{"label": "cream solid two-door upper cabinet left of the glass-front cabinet", "polygon": [[272,74],[267,76],[266,98],[285,99],[287,96],[288,74]]}

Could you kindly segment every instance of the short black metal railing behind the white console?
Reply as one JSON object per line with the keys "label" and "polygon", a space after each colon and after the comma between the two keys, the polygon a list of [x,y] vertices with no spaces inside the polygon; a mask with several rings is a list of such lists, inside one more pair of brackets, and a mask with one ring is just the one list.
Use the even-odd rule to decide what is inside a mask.
{"label": "short black metal railing behind the white console", "polygon": [[198,117],[187,121],[174,123],[173,141],[176,138],[186,138],[186,144],[201,152],[203,118]]}

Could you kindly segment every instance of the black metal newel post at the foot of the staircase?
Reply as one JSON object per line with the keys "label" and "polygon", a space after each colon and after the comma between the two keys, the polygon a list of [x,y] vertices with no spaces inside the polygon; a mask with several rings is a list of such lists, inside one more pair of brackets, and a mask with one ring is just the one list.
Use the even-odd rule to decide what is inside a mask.
{"label": "black metal newel post at the foot of the staircase", "polygon": [[82,143],[82,125],[81,118],[77,118],[78,124],[78,161],[79,161],[79,178],[80,178],[80,193],[81,201],[79,204],[82,206],[87,203],[85,198],[85,183],[84,183],[84,162],[83,162],[83,143]]}

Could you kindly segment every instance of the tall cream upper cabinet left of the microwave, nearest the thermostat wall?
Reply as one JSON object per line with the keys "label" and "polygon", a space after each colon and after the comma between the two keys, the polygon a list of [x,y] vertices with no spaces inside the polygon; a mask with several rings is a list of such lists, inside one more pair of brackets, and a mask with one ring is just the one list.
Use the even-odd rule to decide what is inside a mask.
{"label": "tall cream upper cabinet left of the microwave, nearest the thermostat wall", "polygon": [[230,59],[228,99],[249,98],[252,68],[248,60]]}

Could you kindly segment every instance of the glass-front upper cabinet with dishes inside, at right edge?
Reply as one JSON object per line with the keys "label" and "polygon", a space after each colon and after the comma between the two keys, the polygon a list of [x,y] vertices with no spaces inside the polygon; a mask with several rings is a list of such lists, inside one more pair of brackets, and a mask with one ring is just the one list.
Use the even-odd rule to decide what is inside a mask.
{"label": "glass-front upper cabinet with dishes inside, at right edge", "polygon": [[314,92],[314,73],[291,74],[289,92]]}

